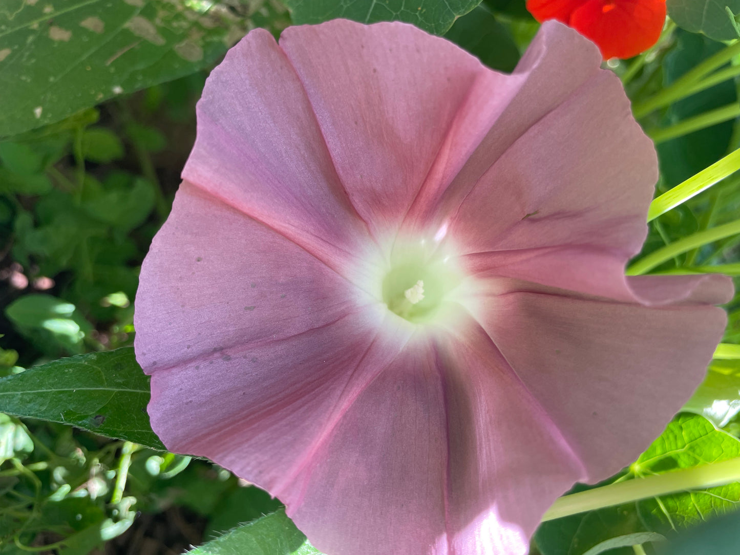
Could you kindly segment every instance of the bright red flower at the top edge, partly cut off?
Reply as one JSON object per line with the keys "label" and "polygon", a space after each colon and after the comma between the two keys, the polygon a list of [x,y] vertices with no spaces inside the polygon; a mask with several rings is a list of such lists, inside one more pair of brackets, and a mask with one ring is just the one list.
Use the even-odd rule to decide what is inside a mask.
{"label": "bright red flower at the top edge, partly cut off", "polygon": [[591,38],[605,59],[631,58],[658,41],[665,0],[527,0],[537,21],[557,19]]}

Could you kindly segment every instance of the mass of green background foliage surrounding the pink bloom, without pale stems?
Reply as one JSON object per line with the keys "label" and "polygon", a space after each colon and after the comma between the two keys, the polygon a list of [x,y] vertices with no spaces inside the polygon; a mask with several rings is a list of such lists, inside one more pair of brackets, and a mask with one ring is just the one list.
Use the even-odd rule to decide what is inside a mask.
{"label": "mass of green background foliage surrounding the pink bloom, without pale stems", "polygon": [[[497,70],[514,69],[538,27],[523,0],[450,1],[445,7],[417,3],[420,10],[411,10],[411,16],[388,13],[445,34]],[[286,545],[295,539],[295,550],[265,548],[264,553],[317,553],[277,511],[277,500],[206,460],[161,450],[151,431],[143,429],[148,382],[129,351],[84,359],[80,368],[53,363],[132,344],[138,269],[169,212],[195,139],[195,102],[226,47],[253,27],[278,36],[290,23],[288,7],[297,22],[361,19],[340,2],[288,4],[0,4],[0,410],[9,413],[0,414],[0,555],[176,555],[263,514],[272,519],[258,526],[292,538]],[[366,4],[352,6],[366,19],[388,19],[380,12],[372,15]],[[644,105],[726,52],[726,44],[715,38],[669,21],[656,47],[632,60],[609,61],[608,67],[623,78],[636,105]],[[729,77],[640,118],[658,144],[658,192],[740,146],[739,113],[733,112],[739,65],[737,55],[728,56],[713,71]],[[676,131],[682,122],[713,110],[725,110],[719,123]],[[739,208],[740,178],[730,175],[653,220],[642,256],[736,221]],[[721,266],[722,272],[740,275],[739,252],[740,235],[733,234],[680,252],[652,272]],[[740,343],[740,299],[727,310],[724,342]],[[84,380],[94,385],[107,379],[95,374],[101,369],[118,372],[120,387],[110,386],[112,393],[104,398],[78,394]],[[88,370],[92,374],[82,380]],[[90,386],[95,388],[100,389]],[[653,454],[664,461],[660,468],[636,462],[615,480],[739,456],[739,357],[715,360],[686,409],[663,439],[693,437],[699,446],[664,449]],[[644,552],[654,552],[649,542],[732,511],[740,502],[740,484],[657,502],[662,508],[633,504],[548,522],[533,552],[624,555],[638,552],[633,540],[645,542]],[[249,535],[252,529],[237,528],[236,535],[222,540],[244,541],[239,530]],[[615,537],[629,539],[588,551]],[[209,545],[197,553],[252,553],[224,551],[225,543]]]}

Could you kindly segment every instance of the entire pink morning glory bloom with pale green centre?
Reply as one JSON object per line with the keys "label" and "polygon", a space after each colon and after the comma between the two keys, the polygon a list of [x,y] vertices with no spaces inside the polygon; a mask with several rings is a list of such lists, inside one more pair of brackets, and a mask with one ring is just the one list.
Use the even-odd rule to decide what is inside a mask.
{"label": "entire pink morning glory bloom with pale green centre", "polygon": [[551,21],[512,75],[401,23],[254,30],[210,75],[136,299],[152,426],[330,555],[519,555],[632,462],[725,325],[625,277],[656,155]]}

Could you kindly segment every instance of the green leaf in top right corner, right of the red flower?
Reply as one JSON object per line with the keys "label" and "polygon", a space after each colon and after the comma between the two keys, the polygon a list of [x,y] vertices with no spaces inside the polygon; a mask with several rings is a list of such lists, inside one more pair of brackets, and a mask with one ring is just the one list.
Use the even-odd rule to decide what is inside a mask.
{"label": "green leaf in top right corner, right of the red flower", "polygon": [[666,0],[668,16],[691,33],[704,33],[715,41],[737,38],[725,7],[740,11],[740,0]]}

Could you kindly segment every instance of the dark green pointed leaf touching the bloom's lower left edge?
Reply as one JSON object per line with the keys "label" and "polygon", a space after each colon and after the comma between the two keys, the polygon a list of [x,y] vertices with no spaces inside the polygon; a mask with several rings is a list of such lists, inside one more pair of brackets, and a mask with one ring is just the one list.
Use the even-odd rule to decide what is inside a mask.
{"label": "dark green pointed leaf touching the bloom's lower left edge", "polygon": [[164,450],[147,417],[149,377],[131,347],[82,354],[0,379],[0,412]]}

